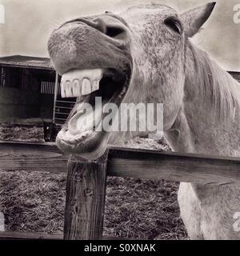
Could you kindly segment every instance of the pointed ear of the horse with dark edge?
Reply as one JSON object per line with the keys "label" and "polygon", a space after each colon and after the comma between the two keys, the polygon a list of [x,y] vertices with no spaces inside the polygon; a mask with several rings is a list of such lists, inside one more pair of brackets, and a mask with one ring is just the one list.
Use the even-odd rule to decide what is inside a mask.
{"label": "pointed ear of the horse with dark edge", "polygon": [[210,14],[214,10],[216,2],[210,2],[204,6],[197,7],[193,10],[188,10],[181,14],[182,23],[184,26],[185,34],[188,37],[194,36],[198,33],[201,26],[210,17]]}

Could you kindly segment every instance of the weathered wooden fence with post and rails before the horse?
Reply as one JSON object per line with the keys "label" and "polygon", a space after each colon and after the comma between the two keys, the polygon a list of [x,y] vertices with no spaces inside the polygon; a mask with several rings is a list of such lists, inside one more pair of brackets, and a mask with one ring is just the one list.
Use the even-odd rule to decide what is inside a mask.
{"label": "weathered wooden fence with post and rails before the horse", "polygon": [[[67,156],[54,143],[0,142],[0,169],[68,172],[64,239],[101,239],[106,176],[240,186],[240,158],[109,147],[96,161]],[[53,238],[0,232],[1,238]]]}

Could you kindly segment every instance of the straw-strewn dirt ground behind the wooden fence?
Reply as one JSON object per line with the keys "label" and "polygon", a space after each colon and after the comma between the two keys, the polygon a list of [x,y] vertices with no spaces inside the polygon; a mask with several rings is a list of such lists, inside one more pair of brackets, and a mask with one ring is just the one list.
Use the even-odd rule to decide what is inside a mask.
{"label": "straw-strewn dirt ground behind the wooden fence", "polygon": [[[0,139],[42,140],[41,129],[0,126]],[[147,138],[136,138],[128,146],[170,150],[164,140]],[[6,218],[6,230],[61,234],[65,186],[66,174],[0,170],[0,211]],[[177,191],[178,182],[107,178],[104,235],[186,239]]]}

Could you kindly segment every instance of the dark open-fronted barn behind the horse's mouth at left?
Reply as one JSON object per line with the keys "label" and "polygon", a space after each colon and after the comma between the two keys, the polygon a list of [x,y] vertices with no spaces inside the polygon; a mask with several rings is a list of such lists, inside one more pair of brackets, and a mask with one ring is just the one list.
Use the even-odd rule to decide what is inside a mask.
{"label": "dark open-fronted barn behind the horse's mouth at left", "polygon": [[49,58],[0,58],[0,122],[62,126],[75,98],[63,100],[59,82]]}

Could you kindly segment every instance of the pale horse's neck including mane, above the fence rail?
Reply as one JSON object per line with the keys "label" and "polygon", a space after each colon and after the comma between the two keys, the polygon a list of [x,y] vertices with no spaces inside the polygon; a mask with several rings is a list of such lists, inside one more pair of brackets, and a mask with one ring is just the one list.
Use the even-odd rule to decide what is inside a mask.
{"label": "pale horse's neck including mane, above the fence rail", "polygon": [[186,46],[185,97],[166,138],[176,151],[240,155],[240,84],[206,53]]}

